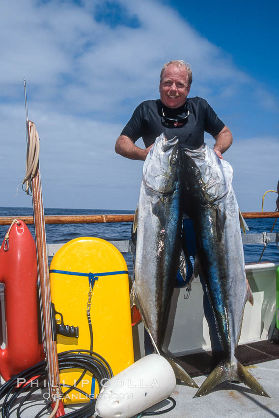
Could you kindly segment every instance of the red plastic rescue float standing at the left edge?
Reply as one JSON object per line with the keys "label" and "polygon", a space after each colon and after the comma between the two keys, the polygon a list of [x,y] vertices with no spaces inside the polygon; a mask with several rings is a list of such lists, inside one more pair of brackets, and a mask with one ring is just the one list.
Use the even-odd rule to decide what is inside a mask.
{"label": "red plastic rescue float standing at the left edge", "polygon": [[37,274],[35,241],[23,221],[14,221],[0,248],[6,318],[6,348],[0,349],[4,380],[44,359],[38,333]]}

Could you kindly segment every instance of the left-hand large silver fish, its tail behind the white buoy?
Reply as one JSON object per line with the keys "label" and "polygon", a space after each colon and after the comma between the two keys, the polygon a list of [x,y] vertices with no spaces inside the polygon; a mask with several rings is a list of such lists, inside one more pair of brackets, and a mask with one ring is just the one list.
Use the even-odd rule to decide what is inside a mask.
{"label": "left-hand large silver fish, its tail behind the white buoy", "polygon": [[[181,163],[178,139],[167,140],[161,134],[143,165],[134,221],[137,248],[131,299],[139,307],[158,353],[164,340],[181,249]],[[197,387],[180,366],[171,364],[179,379]]]}

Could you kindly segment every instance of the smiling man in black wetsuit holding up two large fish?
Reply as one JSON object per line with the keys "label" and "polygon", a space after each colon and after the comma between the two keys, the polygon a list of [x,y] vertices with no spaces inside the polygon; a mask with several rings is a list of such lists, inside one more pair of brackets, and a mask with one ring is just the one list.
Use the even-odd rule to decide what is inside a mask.
{"label": "smiling man in black wetsuit holding up two large fish", "polygon": [[[232,143],[232,135],[227,126],[218,118],[206,100],[200,97],[187,98],[192,83],[192,71],[184,61],[167,62],[161,71],[160,100],[146,100],[136,108],[132,118],[121,132],[115,144],[115,151],[126,158],[145,160],[155,139],[162,132],[167,139],[179,138],[182,148],[197,149],[204,144],[204,132],[216,140],[214,151],[219,158]],[[135,145],[142,137],[145,149]],[[193,254],[194,255],[194,254]],[[205,284],[203,307],[209,325],[212,366],[222,358],[213,312],[207,298]]]}

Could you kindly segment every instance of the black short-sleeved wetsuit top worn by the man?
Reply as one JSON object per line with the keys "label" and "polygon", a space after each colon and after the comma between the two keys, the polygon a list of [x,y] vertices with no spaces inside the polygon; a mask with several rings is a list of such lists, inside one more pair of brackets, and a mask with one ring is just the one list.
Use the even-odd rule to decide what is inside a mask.
{"label": "black short-sleeved wetsuit top worn by the man", "polygon": [[[178,122],[163,117],[164,112],[169,119],[181,119],[187,115],[188,110],[188,118]],[[207,101],[200,97],[187,98],[186,103],[177,109],[166,107],[161,100],[146,100],[136,108],[121,135],[126,135],[134,143],[142,137],[147,148],[164,132],[167,139],[177,136],[181,147],[197,149],[204,144],[204,131],[216,136],[223,127],[222,120]]]}

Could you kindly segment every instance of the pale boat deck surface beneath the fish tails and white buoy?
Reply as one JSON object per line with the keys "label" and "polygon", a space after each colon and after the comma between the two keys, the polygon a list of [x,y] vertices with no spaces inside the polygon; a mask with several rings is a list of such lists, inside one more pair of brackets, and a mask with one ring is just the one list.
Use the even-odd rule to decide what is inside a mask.
{"label": "pale boat deck surface beneath the fish tails and white buoy", "polygon": [[[176,401],[176,407],[161,416],[164,418],[279,417],[279,360],[249,366],[248,370],[258,379],[270,398],[255,395],[250,388],[243,384],[236,385],[225,382],[213,389],[208,395],[193,399],[196,392],[195,388],[177,385],[171,395]],[[195,382],[199,386],[204,380],[205,376],[195,378]],[[167,401],[163,401],[148,411],[164,409],[167,403]],[[23,408],[21,417],[34,417],[43,405],[44,401],[41,394],[35,394],[31,408],[27,410]],[[68,409],[67,412],[72,410],[72,408]],[[92,411],[92,414],[94,412],[95,410]],[[49,414],[44,414],[41,417],[46,418],[48,416]],[[139,416],[140,414],[136,417]],[[151,417],[160,416],[152,415]],[[11,418],[16,418],[15,409],[13,409]]]}

